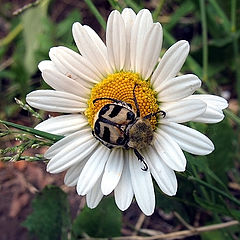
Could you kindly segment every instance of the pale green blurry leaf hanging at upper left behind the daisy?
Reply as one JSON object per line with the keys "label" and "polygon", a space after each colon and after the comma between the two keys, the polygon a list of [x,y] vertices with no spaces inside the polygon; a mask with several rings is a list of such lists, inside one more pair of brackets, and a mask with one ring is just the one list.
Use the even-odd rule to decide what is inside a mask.
{"label": "pale green blurry leaf hanging at upper left behind the daisy", "polygon": [[37,69],[35,52],[39,49],[39,37],[44,34],[44,19],[47,18],[49,0],[40,1],[39,5],[26,10],[21,17],[23,37],[26,46],[24,65],[29,74]]}

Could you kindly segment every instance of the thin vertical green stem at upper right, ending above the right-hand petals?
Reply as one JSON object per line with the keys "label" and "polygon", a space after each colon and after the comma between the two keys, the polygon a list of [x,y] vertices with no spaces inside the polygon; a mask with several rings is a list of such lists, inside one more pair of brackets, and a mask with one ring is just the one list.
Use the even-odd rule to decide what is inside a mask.
{"label": "thin vertical green stem at upper right, ending above the right-hand petals", "polygon": [[207,19],[205,0],[200,0],[201,23],[202,23],[202,43],[203,43],[203,81],[208,80],[208,39],[207,39]]}

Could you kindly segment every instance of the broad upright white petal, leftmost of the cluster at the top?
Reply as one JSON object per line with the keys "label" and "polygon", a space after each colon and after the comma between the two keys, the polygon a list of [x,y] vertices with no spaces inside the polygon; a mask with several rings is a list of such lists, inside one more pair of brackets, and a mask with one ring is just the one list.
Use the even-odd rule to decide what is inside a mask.
{"label": "broad upright white petal, leftmost of the cluster at the top", "polygon": [[111,12],[107,21],[106,44],[112,68],[120,71],[125,62],[127,42],[124,21],[117,10]]}

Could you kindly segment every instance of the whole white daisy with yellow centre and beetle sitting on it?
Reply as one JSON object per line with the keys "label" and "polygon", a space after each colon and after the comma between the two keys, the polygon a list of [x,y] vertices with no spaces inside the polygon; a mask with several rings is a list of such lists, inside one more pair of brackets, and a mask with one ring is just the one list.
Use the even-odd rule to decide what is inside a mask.
{"label": "whole white daisy with yellow centre and beetle sitting on it", "polygon": [[[35,108],[65,113],[36,126],[65,136],[46,151],[47,171],[66,171],[65,184],[86,195],[90,208],[114,192],[119,209],[126,210],[135,196],[151,215],[152,177],[173,196],[175,171],[186,168],[183,150],[195,155],[214,150],[211,140],[183,123],[217,123],[228,104],[218,96],[192,95],[201,86],[196,75],[177,76],[189,53],[187,41],[172,45],[159,61],[162,27],[146,9],[112,11],[106,44],[89,26],[74,23],[72,32],[80,54],[51,48],[51,60],[39,69],[54,90],[33,91],[26,99]],[[143,128],[133,140],[139,120]]]}

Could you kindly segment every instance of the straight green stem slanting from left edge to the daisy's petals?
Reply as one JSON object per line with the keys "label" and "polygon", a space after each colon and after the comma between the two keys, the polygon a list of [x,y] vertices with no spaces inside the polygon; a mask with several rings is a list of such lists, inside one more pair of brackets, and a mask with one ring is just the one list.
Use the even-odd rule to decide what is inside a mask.
{"label": "straight green stem slanting from left edge to the daisy's petals", "polygon": [[5,124],[5,125],[7,125],[9,127],[14,127],[14,128],[20,129],[20,130],[22,130],[24,132],[28,132],[30,134],[37,135],[39,137],[42,137],[42,138],[45,138],[45,139],[48,139],[48,140],[52,140],[54,142],[57,142],[57,141],[61,140],[62,138],[64,138],[64,136],[60,136],[60,135],[55,135],[55,134],[39,131],[37,129],[26,127],[26,126],[22,126],[22,125],[19,125],[19,124],[16,124],[16,123],[12,123],[12,122],[7,122],[7,121],[0,120],[0,123]]}

